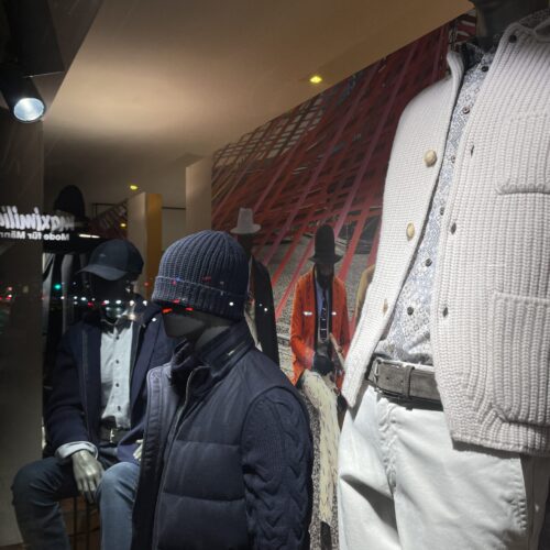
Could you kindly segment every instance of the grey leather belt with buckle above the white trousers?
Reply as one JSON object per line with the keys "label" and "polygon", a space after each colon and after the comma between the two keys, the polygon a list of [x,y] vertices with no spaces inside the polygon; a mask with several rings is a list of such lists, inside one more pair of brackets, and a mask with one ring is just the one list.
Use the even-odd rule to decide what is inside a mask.
{"label": "grey leather belt with buckle above the white trousers", "polygon": [[441,406],[435,373],[421,371],[414,364],[374,358],[367,381],[387,397]]}

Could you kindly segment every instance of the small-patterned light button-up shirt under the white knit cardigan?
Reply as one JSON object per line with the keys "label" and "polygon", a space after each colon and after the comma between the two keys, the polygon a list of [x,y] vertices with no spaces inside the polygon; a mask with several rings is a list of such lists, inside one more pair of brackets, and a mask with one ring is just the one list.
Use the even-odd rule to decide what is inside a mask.
{"label": "small-patterned light button-up shirt under the white knit cardigan", "polygon": [[[521,24],[532,29],[548,16],[548,12],[549,10],[543,10],[534,13],[521,20]],[[475,38],[462,47],[464,76],[451,118],[444,157],[433,193],[430,213],[388,329],[376,346],[376,355],[415,364],[433,364],[430,304],[438,262],[437,252],[441,221],[451,190],[460,140],[495,57],[501,36],[494,37],[493,47],[488,52],[483,51]]]}

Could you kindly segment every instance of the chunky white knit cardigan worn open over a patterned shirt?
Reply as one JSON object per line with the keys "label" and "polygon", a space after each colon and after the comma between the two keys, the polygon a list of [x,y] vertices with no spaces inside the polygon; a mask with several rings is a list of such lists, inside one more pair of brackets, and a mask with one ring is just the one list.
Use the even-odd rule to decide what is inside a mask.
{"label": "chunky white knit cardigan worn open over a patterned shirt", "polygon": [[[428,216],[463,74],[459,55],[448,61],[450,76],[411,101],[395,136],[376,271],[345,365],[352,407]],[[470,114],[430,324],[452,438],[550,454],[550,19],[508,28]]]}

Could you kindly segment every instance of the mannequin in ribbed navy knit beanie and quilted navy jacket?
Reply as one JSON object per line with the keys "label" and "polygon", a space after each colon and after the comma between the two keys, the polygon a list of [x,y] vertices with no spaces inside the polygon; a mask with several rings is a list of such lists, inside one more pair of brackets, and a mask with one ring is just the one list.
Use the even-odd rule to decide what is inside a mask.
{"label": "mannequin in ribbed navy knit beanie and quilted navy jacket", "polygon": [[309,548],[307,410],[244,320],[249,266],[227,233],[163,255],[153,300],[172,361],[147,380],[133,550]]}

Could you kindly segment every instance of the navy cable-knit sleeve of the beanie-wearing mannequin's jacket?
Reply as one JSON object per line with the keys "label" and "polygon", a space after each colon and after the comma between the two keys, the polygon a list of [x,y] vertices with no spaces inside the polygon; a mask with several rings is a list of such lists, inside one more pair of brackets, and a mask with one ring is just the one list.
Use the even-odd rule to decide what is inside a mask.
{"label": "navy cable-knit sleeve of the beanie-wearing mannequin's jacket", "polygon": [[312,443],[296,397],[263,394],[248,413],[242,437],[251,548],[309,548]]}

